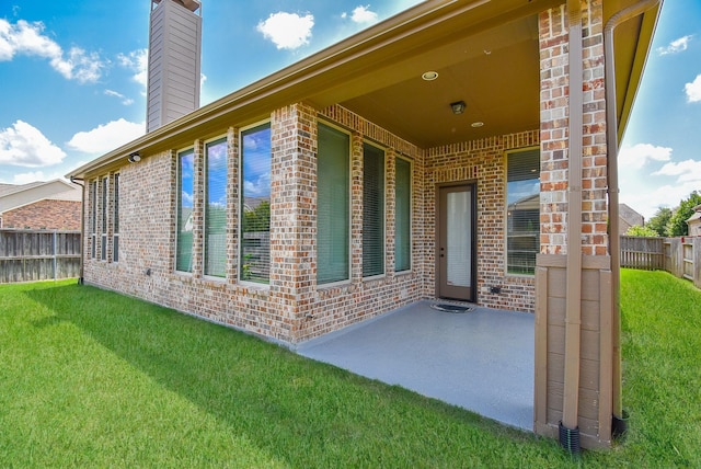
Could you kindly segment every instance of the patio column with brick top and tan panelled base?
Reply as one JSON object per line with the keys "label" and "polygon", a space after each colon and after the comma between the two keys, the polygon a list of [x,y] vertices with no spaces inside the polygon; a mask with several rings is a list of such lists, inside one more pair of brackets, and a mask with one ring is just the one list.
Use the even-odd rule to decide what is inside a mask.
{"label": "patio column with brick top and tan panelled base", "polygon": [[[607,237],[607,147],[604,80],[604,24],[601,0],[582,1],[582,82],[570,77],[570,24],[566,7],[539,16],[540,33],[540,137],[541,231],[536,270],[536,392],[535,431],[558,437],[563,419],[565,381],[578,377],[577,432],[582,446],[608,446],[611,438],[611,260]],[[576,55],[575,55],[576,56]],[[582,83],[582,155],[570,141],[570,87]],[[573,130],[574,133],[574,130]],[[582,174],[572,178],[582,187],[582,229],[570,219],[570,161],[581,158]],[[575,191],[577,187],[572,187]],[[574,230],[574,231],[571,231]],[[568,237],[582,239],[581,276],[572,270]],[[572,254],[572,253],[571,253]],[[576,264],[576,263],[573,263]],[[576,271],[575,271],[576,272]],[[572,290],[565,279],[573,278]],[[575,287],[577,288],[577,287]],[[567,305],[579,306],[574,322]],[[570,347],[573,331],[581,342]],[[573,353],[577,352],[577,353]],[[578,374],[573,370],[578,370]],[[570,400],[570,402],[573,402]]]}

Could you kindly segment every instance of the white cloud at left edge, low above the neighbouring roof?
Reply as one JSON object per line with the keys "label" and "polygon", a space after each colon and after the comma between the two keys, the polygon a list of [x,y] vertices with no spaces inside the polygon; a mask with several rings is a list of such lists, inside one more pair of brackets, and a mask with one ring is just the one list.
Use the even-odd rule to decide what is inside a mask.
{"label": "white cloud at left edge, low above the neighbouring roof", "polygon": [[0,163],[37,168],[58,164],[64,158],[64,150],[23,121],[0,130]]}

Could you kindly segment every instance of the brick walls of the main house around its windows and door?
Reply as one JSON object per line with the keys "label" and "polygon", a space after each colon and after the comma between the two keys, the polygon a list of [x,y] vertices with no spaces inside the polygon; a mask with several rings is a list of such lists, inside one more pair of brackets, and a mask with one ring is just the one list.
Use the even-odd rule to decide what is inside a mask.
{"label": "brick walls of the main house around its windows and door", "polygon": [[[338,125],[352,135],[350,279],[317,285],[317,124]],[[216,322],[297,343],[420,299],[435,297],[435,187],[437,183],[478,182],[478,302],[533,310],[532,276],[505,275],[505,151],[538,145],[536,130],[430,150],[390,134],[341,107],[318,111],[295,104],[272,113],[271,278],[269,286],[238,281],[239,130],[222,135],[229,141],[227,218],[227,277],[203,275],[202,220],[204,219],[204,141],[193,142],[195,178],[193,205],[194,262],[192,274],[175,272],[175,204],[177,151],[145,156],[125,164],[119,173],[119,259],[113,262],[112,204],[107,204],[107,256],[102,253],[102,179],[96,179],[97,217],[95,259],[90,259],[90,237],[84,278],[91,284],[123,291]],[[386,149],[386,274],[363,277],[363,142]],[[412,161],[412,270],[394,272],[394,161]],[[110,186],[114,174],[108,175]],[[90,184],[87,185],[90,188]],[[89,194],[87,194],[89,195]],[[87,196],[87,224],[92,197]],[[87,225],[88,226],[88,225]],[[501,285],[502,293],[489,294]]]}

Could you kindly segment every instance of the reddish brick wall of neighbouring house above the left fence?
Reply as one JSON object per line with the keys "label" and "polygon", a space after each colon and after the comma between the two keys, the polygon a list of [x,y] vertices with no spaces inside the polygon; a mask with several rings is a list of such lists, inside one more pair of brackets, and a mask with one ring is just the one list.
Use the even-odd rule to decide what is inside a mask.
{"label": "reddish brick wall of neighbouring house above the left fence", "polygon": [[2,214],[2,228],[80,230],[81,203],[38,201]]}

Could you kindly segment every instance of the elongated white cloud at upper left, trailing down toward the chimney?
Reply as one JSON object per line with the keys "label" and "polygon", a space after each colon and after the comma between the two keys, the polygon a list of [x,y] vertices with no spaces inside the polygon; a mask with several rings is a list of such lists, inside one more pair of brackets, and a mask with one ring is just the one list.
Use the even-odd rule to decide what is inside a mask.
{"label": "elongated white cloud at upper left, trailing down toward the chimney", "polygon": [[102,77],[105,64],[95,53],[88,54],[71,47],[66,54],[61,46],[44,34],[44,23],[19,20],[15,24],[0,19],[0,61],[12,60],[15,55],[42,57],[68,80],[93,83]]}

